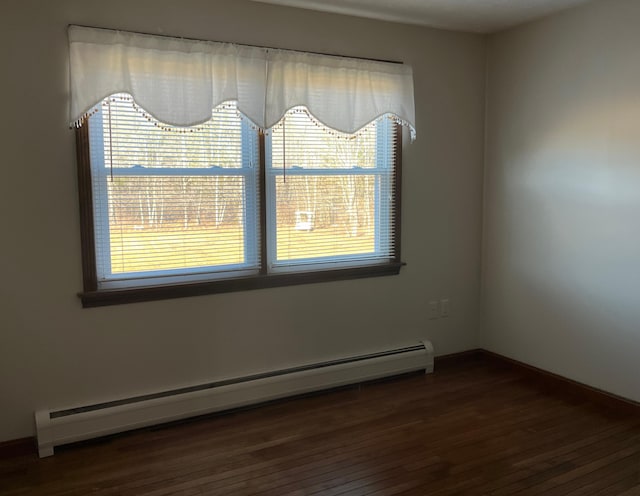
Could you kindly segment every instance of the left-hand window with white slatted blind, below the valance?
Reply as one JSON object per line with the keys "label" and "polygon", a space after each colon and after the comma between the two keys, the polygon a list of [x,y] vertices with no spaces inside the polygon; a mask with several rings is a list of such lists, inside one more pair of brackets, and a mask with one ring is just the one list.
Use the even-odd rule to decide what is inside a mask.
{"label": "left-hand window with white slatted blind, below the valance", "polygon": [[257,271],[257,137],[235,106],[186,129],[147,118],[126,95],[97,110],[89,129],[102,286]]}

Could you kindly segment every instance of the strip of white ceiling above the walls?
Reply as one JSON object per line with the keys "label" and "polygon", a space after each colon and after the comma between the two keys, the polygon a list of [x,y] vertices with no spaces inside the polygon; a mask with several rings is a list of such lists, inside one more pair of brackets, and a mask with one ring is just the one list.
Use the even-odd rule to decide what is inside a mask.
{"label": "strip of white ceiling above the walls", "polygon": [[590,0],[254,0],[437,28],[491,33]]}

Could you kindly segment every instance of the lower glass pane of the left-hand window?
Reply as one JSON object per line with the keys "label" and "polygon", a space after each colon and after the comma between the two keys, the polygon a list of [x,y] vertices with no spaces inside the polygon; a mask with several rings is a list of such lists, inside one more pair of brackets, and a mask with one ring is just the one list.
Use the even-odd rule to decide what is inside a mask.
{"label": "lower glass pane of the left-hand window", "polygon": [[242,177],[116,177],[107,185],[112,273],[245,262]]}

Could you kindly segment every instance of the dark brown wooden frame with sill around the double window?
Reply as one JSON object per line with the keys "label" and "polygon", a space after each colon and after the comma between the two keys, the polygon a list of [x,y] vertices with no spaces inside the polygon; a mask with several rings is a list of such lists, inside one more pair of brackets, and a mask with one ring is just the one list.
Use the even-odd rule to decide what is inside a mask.
{"label": "dark brown wooden frame with sill around the double window", "polygon": [[[404,265],[400,259],[402,126],[396,124],[396,147],[394,156],[394,251],[390,262],[312,272],[269,274],[266,272],[266,236],[261,236],[260,254],[262,268],[259,274],[254,276],[136,288],[99,289],[96,271],[96,247],[94,237],[93,194],[91,184],[88,127],[88,123],[85,123],[85,125],[76,129],[83,273],[83,291],[79,293],[79,297],[82,301],[82,306],[85,308],[273,288],[279,286],[293,286],[299,284],[396,275],[400,272],[401,266]],[[264,194],[266,189],[266,170],[264,166],[265,141],[263,134],[260,134],[260,162],[260,222],[261,229],[264,230],[267,225],[267,213],[266,198]]]}

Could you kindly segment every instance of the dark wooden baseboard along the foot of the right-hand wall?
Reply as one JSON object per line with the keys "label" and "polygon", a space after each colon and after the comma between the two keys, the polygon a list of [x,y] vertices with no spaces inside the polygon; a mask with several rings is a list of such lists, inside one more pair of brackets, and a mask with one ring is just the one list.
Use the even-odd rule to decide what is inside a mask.
{"label": "dark wooden baseboard along the foot of the right-hand wall", "polygon": [[578,397],[622,414],[640,415],[640,403],[631,399],[588,386],[492,351],[483,349],[480,352],[489,361],[517,370],[545,391]]}

